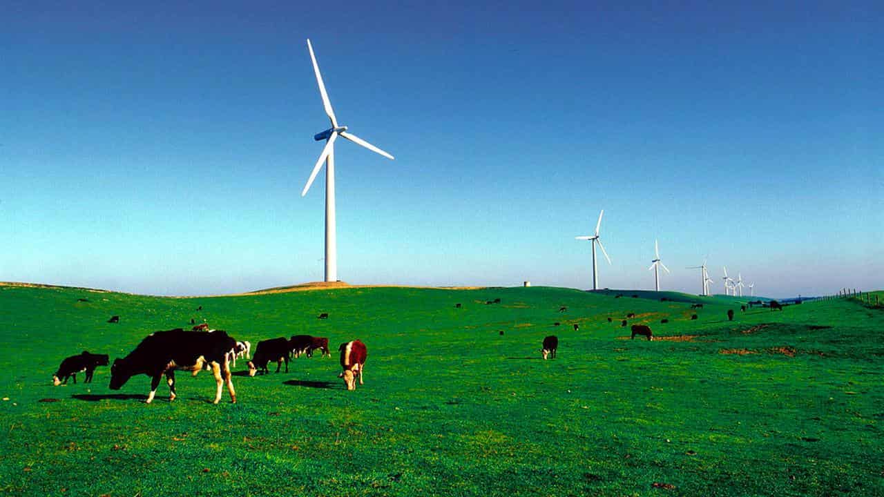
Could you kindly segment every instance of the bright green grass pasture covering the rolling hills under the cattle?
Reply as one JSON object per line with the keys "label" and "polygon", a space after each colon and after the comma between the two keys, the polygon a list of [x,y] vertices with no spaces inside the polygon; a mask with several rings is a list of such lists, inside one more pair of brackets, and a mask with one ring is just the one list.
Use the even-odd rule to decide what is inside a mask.
{"label": "bright green grass pasture covering the rolling hills under the cattle", "polygon": [[[696,321],[690,302],[705,304]],[[884,495],[884,312],[838,300],[743,314],[740,302],[551,287],[191,299],[0,287],[0,493]],[[629,312],[664,340],[623,340]],[[207,372],[179,372],[178,399],[161,384],[150,405],[148,377],[110,391],[108,367],[90,385],[80,374],[52,386],[66,356],[112,361],[191,318],[253,347],[359,338],[365,385],[344,389],[333,351],[255,378],[238,362],[236,404],[210,403]],[[548,334],[558,358],[542,361]]]}

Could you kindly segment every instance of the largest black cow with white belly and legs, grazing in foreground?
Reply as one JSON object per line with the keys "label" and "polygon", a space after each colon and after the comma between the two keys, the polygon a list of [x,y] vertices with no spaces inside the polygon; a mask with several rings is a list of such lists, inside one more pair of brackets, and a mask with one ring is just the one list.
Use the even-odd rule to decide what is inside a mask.
{"label": "largest black cow with white belly and legs, grazing in foreground", "polygon": [[229,353],[236,345],[225,331],[212,333],[186,332],[180,328],[150,333],[128,356],[117,359],[110,367],[110,389],[119,390],[136,374],[151,377],[147,403],[154,400],[156,387],[163,375],[169,384],[169,401],[175,400],[175,370],[191,371],[194,376],[203,365],[210,364],[215,374],[215,401],[221,400],[221,386],[226,383],[230,399],[236,402],[236,391],[230,378]]}

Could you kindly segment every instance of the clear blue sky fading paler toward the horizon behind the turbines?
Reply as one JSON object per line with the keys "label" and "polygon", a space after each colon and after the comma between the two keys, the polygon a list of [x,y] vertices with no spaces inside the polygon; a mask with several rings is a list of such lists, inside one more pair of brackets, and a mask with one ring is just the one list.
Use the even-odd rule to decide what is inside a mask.
{"label": "clear blue sky fading paler toward the horizon behind the turbines", "polygon": [[[884,287],[884,3],[4,2],[0,280]],[[747,289],[748,292],[748,289]]]}

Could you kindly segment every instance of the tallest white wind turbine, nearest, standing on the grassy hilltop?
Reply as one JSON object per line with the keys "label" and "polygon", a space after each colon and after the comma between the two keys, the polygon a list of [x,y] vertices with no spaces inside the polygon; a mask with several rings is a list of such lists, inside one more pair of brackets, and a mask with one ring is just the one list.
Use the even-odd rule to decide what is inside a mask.
{"label": "tallest white wind turbine, nearest, standing on the grassy hilltop", "polygon": [[392,159],[393,157],[382,149],[378,149],[368,141],[362,140],[354,134],[347,133],[347,126],[338,126],[338,119],[335,118],[334,111],[331,109],[329,96],[325,93],[325,85],[323,76],[319,73],[319,65],[316,64],[316,55],[313,54],[313,45],[307,40],[307,50],[310,52],[310,60],[313,61],[313,72],[316,73],[316,83],[319,85],[319,95],[323,97],[323,105],[325,114],[331,120],[331,127],[324,132],[316,134],[313,139],[316,141],[325,141],[323,152],[319,154],[319,160],[310,173],[310,179],[301,192],[301,196],[307,195],[307,190],[316,179],[316,174],[325,163],[325,281],[338,280],[338,238],[335,231],[335,211],[334,211],[334,141],[338,136],[343,136],[349,141],[353,141],[357,145],[362,145],[372,152]]}

